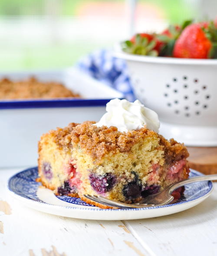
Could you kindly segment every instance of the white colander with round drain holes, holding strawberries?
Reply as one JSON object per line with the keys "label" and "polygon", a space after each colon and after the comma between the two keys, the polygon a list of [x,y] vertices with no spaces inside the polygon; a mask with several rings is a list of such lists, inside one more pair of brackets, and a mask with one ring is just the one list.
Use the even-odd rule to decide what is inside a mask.
{"label": "white colander with round drain holes, holding strawberries", "polygon": [[148,57],[125,59],[136,97],[155,110],[160,133],[189,146],[217,146],[217,60]]}

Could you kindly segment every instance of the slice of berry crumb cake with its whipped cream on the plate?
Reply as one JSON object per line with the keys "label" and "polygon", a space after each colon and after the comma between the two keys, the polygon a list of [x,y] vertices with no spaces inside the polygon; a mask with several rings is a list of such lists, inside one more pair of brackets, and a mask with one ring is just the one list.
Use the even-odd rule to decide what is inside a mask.
{"label": "slice of berry crumb cake with its whipped cream on the plate", "polygon": [[158,115],[114,99],[98,123],[70,123],[39,141],[39,180],[56,195],[136,202],[188,177],[187,148],[158,134]]}

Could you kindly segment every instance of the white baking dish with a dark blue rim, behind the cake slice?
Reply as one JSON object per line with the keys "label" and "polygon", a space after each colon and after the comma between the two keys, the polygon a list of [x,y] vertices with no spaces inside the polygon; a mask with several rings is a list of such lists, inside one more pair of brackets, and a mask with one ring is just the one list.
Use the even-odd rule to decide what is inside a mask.
{"label": "white baking dish with a dark blue rim, behind the cake slice", "polygon": [[43,133],[70,122],[98,121],[110,99],[123,98],[118,91],[72,68],[4,72],[0,78],[19,80],[32,75],[40,81],[62,82],[84,98],[0,101],[0,167],[36,165],[37,144]]}

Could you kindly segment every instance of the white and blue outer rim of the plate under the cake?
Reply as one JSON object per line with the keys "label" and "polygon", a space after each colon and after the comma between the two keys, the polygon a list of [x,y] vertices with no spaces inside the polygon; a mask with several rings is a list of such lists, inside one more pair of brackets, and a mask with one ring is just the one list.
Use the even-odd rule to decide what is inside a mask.
{"label": "white and blue outer rim of the plate under the cake", "polygon": [[[28,203],[28,202],[31,202],[31,203],[33,203],[33,204],[38,204],[38,205],[44,205],[44,206],[48,206],[49,205],[49,207],[52,207],[52,209],[56,209],[56,208],[63,208],[63,209],[65,209],[66,211],[68,211],[68,210],[76,210],[76,211],[83,211],[83,210],[85,210],[85,211],[100,211],[100,212],[120,212],[120,211],[122,211],[122,212],[128,212],[128,211],[141,211],[141,210],[151,210],[151,209],[162,209],[162,208],[174,208],[174,207],[176,207],[176,206],[179,206],[179,205],[182,205],[182,204],[188,204],[188,203],[191,203],[191,202],[193,202],[193,201],[195,201],[195,200],[197,200],[197,199],[202,199],[202,198],[204,198],[204,197],[207,197],[207,196],[209,196],[210,194],[211,194],[211,192],[213,191],[213,189],[214,189],[214,186],[213,186],[213,182],[212,181],[208,181],[208,187],[209,187],[209,191],[205,194],[205,195],[202,195],[202,196],[198,196],[198,197],[196,197],[196,198],[194,198],[194,199],[190,199],[190,200],[188,200],[188,201],[182,201],[182,202],[177,202],[177,203],[174,203],[174,204],[168,204],[168,205],[161,205],[161,206],[152,206],[152,207],[143,207],[143,208],[130,208],[130,209],[101,209],[101,208],[98,208],[98,207],[95,207],[95,208],[88,208],[88,207],[74,207],[74,206],[66,206],[66,205],[53,205],[53,204],[50,204],[50,203],[46,203],[46,202],[39,202],[39,201],[36,201],[36,200],[33,200],[33,199],[31,199],[31,198],[26,198],[26,197],[23,197],[22,195],[18,195],[18,194],[16,194],[16,192],[14,192],[11,188],[10,188],[10,182],[11,182],[11,180],[13,180],[13,178],[17,175],[17,174],[20,174],[20,173],[22,173],[22,172],[27,172],[27,171],[29,171],[29,170],[32,170],[32,169],[34,169],[34,168],[38,168],[38,166],[35,166],[35,167],[30,167],[30,168],[27,168],[27,169],[25,169],[25,170],[23,170],[23,171],[21,171],[21,172],[16,172],[14,175],[12,175],[9,179],[8,179],[8,181],[7,181],[7,190],[8,190],[8,192],[10,192],[10,194],[11,195],[13,195],[13,197],[15,197],[15,198],[17,198],[18,200],[22,200],[23,202],[26,202],[26,203]],[[201,173],[201,172],[198,172],[198,171],[196,171],[196,170],[194,170],[194,169],[191,169],[190,168],[190,172],[193,172],[193,173],[195,173],[196,175],[198,175],[198,176],[202,176],[202,175],[204,175],[203,173]]]}

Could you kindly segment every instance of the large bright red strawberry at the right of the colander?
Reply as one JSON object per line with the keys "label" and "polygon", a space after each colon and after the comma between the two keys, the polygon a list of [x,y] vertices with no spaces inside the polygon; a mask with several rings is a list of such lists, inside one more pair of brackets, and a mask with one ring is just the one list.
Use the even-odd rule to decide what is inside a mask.
{"label": "large bright red strawberry at the right of the colander", "polygon": [[182,31],[175,42],[173,56],[206,59],[209,57],[211,47],[212,43],[203,30],[203,24],[191,24]]}

